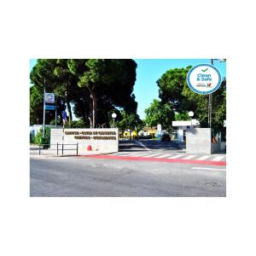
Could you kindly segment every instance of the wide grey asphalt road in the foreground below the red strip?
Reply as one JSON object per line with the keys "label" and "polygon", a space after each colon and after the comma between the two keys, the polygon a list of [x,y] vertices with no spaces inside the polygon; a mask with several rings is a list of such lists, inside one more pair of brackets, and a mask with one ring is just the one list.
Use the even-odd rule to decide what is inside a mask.
{"label": "wide grey asphalt road in the foreground below the red strip", "polygon": [[226,195],[224,166],[39,156],[30,163],[31,196]]}

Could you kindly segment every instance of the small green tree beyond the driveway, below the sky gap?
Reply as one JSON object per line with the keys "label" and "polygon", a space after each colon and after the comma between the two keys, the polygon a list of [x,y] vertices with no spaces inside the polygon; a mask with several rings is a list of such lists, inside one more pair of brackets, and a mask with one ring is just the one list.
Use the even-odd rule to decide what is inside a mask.
{"label": "small green tree beyond the driveway, below the sky gap", "polygon": [[171,130],[174,112],[170,103],[162,103],[154,99],[149,108],[144,110],[146,117],[144,122],[148,126],[162,125],[164,129]]}

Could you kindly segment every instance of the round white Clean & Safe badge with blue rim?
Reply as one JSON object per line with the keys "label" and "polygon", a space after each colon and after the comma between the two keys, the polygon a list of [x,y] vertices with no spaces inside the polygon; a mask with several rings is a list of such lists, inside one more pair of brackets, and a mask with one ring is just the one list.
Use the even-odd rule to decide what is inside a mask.
{"label": "round white Clean & Safe badge with blue rim", "polygon": [[210,64],[198,64],[187,74],[189,88],[199,94],[211,94],[222,82],[218,69]]}

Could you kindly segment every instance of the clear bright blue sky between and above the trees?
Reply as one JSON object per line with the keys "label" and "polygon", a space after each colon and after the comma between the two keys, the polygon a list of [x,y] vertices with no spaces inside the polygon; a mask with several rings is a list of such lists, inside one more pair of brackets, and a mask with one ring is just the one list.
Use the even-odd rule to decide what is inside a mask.
{"label": "clear bright blue sky between and above the trees", "polygon": [[[154,98],[158,99],[158,86],[156,81],[162,74],[171,68],[195,66],[201,63],[211,64],[210,59],[134,59],[137,62],[137,79],[133,93],[136,96],[137,113],[144,119],[144,109],[150,106]],[[36,59],[30,60],[30,70],[37,63]],[[226,62],[214,61],[222,77],[226,77]]]}

